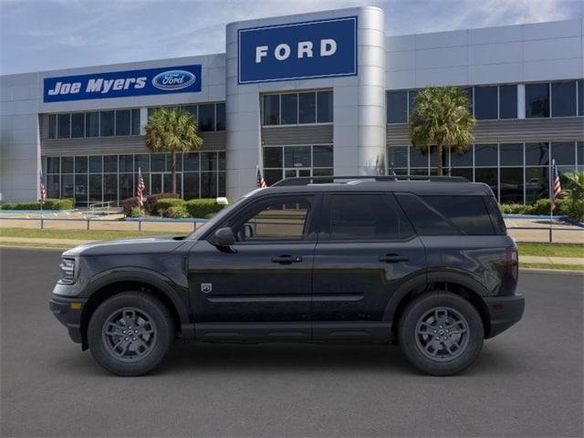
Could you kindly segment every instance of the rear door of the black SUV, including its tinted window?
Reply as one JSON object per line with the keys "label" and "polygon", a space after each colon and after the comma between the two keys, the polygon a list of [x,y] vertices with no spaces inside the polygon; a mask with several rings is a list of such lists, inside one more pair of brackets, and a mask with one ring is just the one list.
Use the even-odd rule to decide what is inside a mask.
{"label": "rear door of the black SUV, including its tinted window", "polygon": [[382,317],[392,293],[425,274],[420,238],[385,193],[327,195],[322,227],[313,270],[313,338],[389,339],[382,323],[391,321]]}

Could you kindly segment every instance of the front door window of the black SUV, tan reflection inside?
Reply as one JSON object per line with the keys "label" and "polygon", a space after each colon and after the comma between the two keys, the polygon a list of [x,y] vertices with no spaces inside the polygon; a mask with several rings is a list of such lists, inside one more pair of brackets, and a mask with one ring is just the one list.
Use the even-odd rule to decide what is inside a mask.
{"label": "front door window of the black SUV, tan reflection inside", "polygon": [[306,238],[310,196],[280,196],[248,209],[234,226],[237,242],[299,241]]}

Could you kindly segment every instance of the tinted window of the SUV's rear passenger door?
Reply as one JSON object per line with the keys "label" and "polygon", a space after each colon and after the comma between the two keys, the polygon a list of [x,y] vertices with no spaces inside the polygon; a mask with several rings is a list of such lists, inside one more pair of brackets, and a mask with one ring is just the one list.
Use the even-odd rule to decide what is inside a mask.
{"label": "tinted window of the SUV's rear passenger door", "polygon": [[403,240],[414,235],[400,206],[386,193],[330,195],[326,225],[330,240]]}

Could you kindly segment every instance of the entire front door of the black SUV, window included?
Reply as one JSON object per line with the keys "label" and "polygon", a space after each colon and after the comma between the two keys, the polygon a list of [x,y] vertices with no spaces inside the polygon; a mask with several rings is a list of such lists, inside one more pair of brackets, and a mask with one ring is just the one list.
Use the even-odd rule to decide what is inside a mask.
{"label": "entire front door of the black SUV, window included", "polygon": [[317,199],[260,199],[220,225],[234,232],[231,248],[210,241],[193,246],[189,280],[196,322],[297,321],[305,324],[309,337],[316,242],[308,236]]}

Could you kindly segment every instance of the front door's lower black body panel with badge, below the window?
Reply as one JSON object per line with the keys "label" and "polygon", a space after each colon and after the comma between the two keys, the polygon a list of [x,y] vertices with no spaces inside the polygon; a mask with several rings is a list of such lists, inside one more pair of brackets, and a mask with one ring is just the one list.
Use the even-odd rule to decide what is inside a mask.
{"label": "front door's lower black body panel with badge, below the window", "polygon": [[227,252],[197,243],[189,262],[195,321],[308,321],[314,248],[243,244]]}

